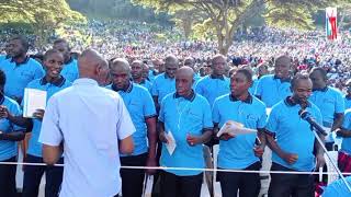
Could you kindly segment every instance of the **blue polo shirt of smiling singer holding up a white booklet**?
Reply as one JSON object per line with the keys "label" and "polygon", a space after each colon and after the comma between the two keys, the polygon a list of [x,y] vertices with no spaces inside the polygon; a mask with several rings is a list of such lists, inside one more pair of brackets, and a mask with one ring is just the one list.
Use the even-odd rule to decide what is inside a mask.
{"label": "blue polo shirt of smiling singer holding up a white booklet", "polygon": [[[54,84],[53,84],[53,83],[48,83],[44,77],[42,79],[33,80],[32,82],[29,83],[29,85],[26,88],[46,91],[46,94],[47,94],[46,102],[47,102],[48,99],[50,99],[55,93],[57,93],[57,92],[59,92],[70,85],[71,85],[71,83],[68,80],[66,80],[65,78],[60,78],[60,80],[54,82]],[[41,130],[42,130],[42,121],[38,119],[35,119],[35,118],[32,120],[33,120],[33,129],[32,129],[32,136],[31,136],[30,143],[29,143],[27,153],[31,155],[34,155],[34,157],[42,158],[43,157],[43,153],[42,153],[43,144],[41,142],[38,142],[38,138],[39,138]]]}

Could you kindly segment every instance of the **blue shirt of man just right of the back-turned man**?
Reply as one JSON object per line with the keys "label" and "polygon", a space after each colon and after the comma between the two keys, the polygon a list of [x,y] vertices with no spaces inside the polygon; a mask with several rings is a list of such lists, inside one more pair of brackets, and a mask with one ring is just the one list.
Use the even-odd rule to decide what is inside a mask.
{"label": "blue shirt of man just right of the back-turned man", "polygon": [[150,93],[144,86],[136,83],[129,83],[128,89],[125,91],[117,91],[113,84],[109,85],[107,89],[118,92],[136,129],[133,134],[134,152],[132,155],[147,152],[147,126],[145,119],[157,116]]}

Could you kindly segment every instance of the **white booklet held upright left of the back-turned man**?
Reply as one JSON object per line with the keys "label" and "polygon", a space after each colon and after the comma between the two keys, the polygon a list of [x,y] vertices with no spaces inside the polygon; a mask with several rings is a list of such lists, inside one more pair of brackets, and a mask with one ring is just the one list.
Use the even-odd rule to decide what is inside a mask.
{"label": "white booklet held upright left of the back-turned man", "polygon": [[24,89],[23,117],[33,118],[33,114],[35,111],[45,109],[46,96],[46,91],[36,89]]}

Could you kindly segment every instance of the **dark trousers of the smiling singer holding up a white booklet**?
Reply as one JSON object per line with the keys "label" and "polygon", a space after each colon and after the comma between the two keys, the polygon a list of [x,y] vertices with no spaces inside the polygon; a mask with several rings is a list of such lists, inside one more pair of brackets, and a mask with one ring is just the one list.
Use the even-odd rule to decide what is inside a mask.
{"label": "dark trousers of the smiling singer holding up a white booklet", "polygon": [[[34,157],[27,154],[25,158],[27,163],[43,163],[43,158]],[[57,162],[59,164],[64,163],[64,159],[60,158]],[[45,197],[57,197],[63,183],[64,167],[61,166],[24,166],[24,177],[23,177],[23,197],[37,197],[38,189],[42,181],[42,176],[45,173],[46,184],[45,184]]]}

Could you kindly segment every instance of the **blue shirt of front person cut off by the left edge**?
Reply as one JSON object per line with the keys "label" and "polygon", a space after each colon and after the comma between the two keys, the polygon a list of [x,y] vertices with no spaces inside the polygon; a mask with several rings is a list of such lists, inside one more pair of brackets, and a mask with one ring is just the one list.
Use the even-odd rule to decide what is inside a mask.
{"label": "blue shirt of front person cut off by the left edge", "polygon": [[[8,96],[0,99],[0,105],[8,107],[11,114],[20,116],[22,114],[20,105]],[[0,130],[4,134],[20,130],[21,127],[14,125],[5,118],[0,119]],[[0,140],[0,161],[8,160],[12,157],[18,155],[18,143],[15,141]]]}

